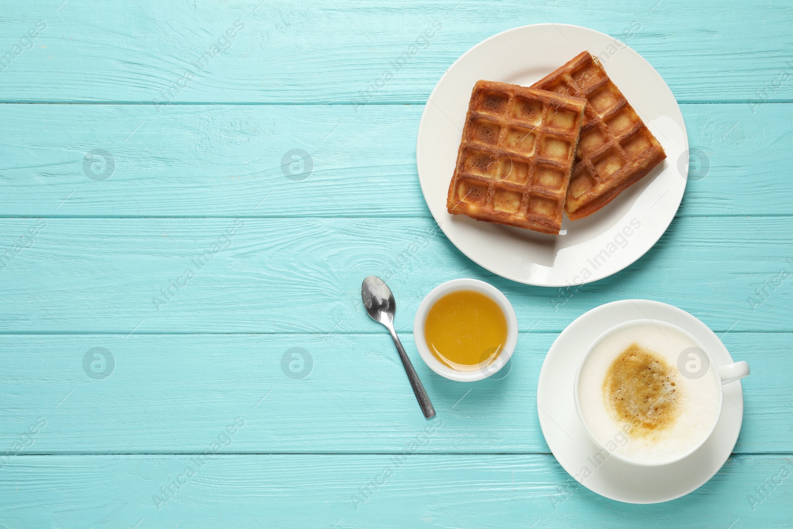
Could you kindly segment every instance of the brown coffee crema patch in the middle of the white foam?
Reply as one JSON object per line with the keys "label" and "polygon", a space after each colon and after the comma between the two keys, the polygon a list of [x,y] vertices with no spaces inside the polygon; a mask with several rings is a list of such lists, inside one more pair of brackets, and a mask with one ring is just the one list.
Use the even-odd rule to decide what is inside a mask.
{"label": "brown coffee crema patch in the middle of the white foam", "polygon": [[632,436],[646,436],[674,424],[680,413],[679,388],[672,367],[637,343],[611,362],[603,398],[615,420],[631,424]]}

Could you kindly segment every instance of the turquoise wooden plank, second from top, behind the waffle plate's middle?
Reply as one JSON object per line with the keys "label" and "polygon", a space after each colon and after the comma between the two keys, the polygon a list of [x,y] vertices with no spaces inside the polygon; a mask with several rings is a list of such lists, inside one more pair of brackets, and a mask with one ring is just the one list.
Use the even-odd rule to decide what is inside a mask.
{"label": "turquoise wooden plank, second from top, behind the waffle plate's middle", "polygon": [[[422,112],[422,105],[359,113],[348,105],[173,105],[162,114],[151,105],[0,105],[0,216],[428,216],[416,174]],[[748,105],[683,105],[683,112],[694,164],[680,215],[793,213],[793,105],[755,113]],[[293,149],[310,161],[298,157],[285,172],[282,159]]]}

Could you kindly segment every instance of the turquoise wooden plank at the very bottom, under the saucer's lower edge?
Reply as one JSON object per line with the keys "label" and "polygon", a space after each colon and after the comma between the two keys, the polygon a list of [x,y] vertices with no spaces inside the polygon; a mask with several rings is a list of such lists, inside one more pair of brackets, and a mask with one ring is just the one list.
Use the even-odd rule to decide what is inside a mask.
{"label": "turquoise wooden plank at the very bottom, under the saucer's lower edge", "polygon": [[[9,527],[138,529],[663,529],[680,519],[695,528],[736,519],[741,527],[787,528],[791,472],[789,457],[733,457],[688,496],[633,505],[584,489],[552,455],[17,456],[0,482],[0,518]],[[161,489],[168,486],[170,496]]]}

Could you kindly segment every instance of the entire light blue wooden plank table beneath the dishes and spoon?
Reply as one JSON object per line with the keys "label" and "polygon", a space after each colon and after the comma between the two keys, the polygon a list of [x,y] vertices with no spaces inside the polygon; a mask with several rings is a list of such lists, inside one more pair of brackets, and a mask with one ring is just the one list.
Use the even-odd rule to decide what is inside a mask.
{"label": "entire light blue wooden plank table beneath the dishes and spoon", "polygon": [[[793,526],[788,2],[2,3],[3,529]],[[416,176],[446,68],[547,21],[645,56],[696,158],[659,243],[573,294],[466,259]],[[367,274],[435,421],[362,311]],[[531,330],[502,380],[447,381],[413,347],[419,301],[462,277]],[[626,297],[691,312],[753,369],[734,454],[666,504],[576,486],[538,425],[554,338]]]}

